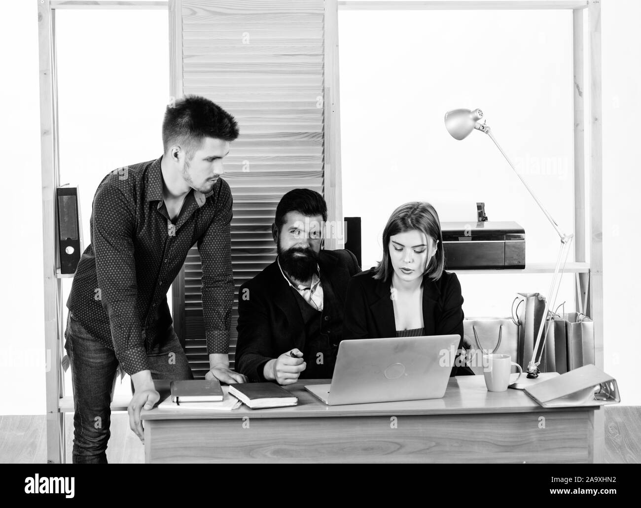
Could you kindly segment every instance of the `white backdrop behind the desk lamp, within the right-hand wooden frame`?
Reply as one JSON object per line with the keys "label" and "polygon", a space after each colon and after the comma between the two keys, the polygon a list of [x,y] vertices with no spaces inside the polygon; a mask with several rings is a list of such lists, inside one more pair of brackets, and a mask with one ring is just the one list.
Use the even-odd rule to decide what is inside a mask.
{"label": "white backdrop behind the desk lamp, within the right-hand wooden frame", "polygon": [[[480,108],[495,138],[562,231],[574,229],[572,11],[339,12],[343,206],[362,217],[363,268],[404,202],[442,221],[526,231],[526,263],[556,261],[560,238],[492,140],[452,138],[445,111]],[[350,37],[358,34],[357,37]],[[574,247],[568,258],[574,261]],[[517,292],[547,295],[552,275],[459,275],[467,316],[508,316]],[[574,275],[557,304],[574,311]]]}

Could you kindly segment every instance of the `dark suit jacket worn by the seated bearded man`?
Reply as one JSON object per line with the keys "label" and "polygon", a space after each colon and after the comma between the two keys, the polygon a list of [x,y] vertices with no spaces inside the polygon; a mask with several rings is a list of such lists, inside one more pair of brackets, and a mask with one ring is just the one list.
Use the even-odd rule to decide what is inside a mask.
{"label": "dark suit jacket worn by the seated bearded man", "polygon": [[[360,272],[349,250],[321,250],[320,281],[328,279],[342,314],[347,284]],[[249,292],[247,292],[247,291]],[[247,297],[244,297],[247,295]],[[326,297],[324,291],[323,296]],[[342,320],[342,316],[340,316]],[[274,261],[238,291],[238,341],[235,368],[251,381],[262,381],[263,366],[292,348],[304,349],[305,331],[301,309],[293,290]],[[340,341],[340,332],[337,341]]]}

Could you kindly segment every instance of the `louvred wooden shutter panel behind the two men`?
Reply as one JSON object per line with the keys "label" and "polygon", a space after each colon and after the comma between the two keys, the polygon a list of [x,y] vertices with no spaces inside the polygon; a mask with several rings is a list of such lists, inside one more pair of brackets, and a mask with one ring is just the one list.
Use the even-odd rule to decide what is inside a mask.
{"label": "louvred wooden shutter panel behind the two men", "polygon": [[[182,0],[180,12],[183,94],[216,102],[240,129],[223,161],[234,202],[233,366],[238,288],[276,258],[279,199],[299,187],[323,193],[324,1]],[[184,275],[185,352],[199,378],[209,363],[196,247]]]}

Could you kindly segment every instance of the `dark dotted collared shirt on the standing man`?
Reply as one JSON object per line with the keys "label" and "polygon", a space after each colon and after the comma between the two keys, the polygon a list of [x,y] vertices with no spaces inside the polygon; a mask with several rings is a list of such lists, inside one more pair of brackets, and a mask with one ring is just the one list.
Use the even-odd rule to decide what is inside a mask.
{"label": "dark dotted collared shirt on the standing man", "polygon": [[172,323],[167,291],[197,244],[203,275],[207,353],[228,353],[231,306],[232,197],[219,179],[211,192],[192,190],[172,222],[163,201],[162,157],[119,168],[99,184],[91,243],[74,275],[67,307],[112,348],[125,372],[147,370],[147,351]]}

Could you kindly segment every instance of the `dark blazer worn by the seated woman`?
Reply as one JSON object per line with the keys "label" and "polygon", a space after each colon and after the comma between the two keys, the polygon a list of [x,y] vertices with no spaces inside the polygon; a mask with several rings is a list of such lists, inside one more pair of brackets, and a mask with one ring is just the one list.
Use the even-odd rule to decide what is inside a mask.
{"label": "dark blazer worn by the seated woman", "polygon": [[[352,277],[345,299],[343,340],[395,337],[391,281],[374,279],[374,268]],[[443,272],[438,281],[423,277],[423,324],[426,335],[461,337],[463,348],[463,295],[456,274]],[[467,366],[453,366],[451,375],[473,375]]]}

